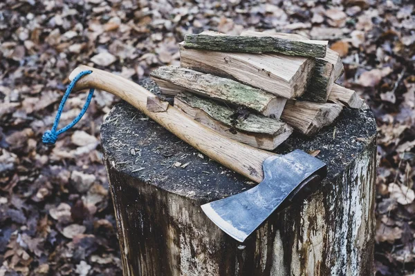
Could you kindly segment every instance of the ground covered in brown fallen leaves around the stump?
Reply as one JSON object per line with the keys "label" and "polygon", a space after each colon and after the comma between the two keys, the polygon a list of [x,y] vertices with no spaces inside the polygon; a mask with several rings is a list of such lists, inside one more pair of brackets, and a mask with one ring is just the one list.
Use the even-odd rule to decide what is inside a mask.
{"label": "ground covered in brown fallen leaves around the stump", "polygon": [[[415,12],[411,0],[0,3],[0,275],[120,275],[100,126],[112,95],[54,147],[42,144],[79,64],[140,81],[178,65],[187,33],[273,29],[328,39],[340,78],[378,125],[377,275],[415,270]],[[77,92],[60,126],[84,104]],[[362,126],[364,128],[365,126]]]}

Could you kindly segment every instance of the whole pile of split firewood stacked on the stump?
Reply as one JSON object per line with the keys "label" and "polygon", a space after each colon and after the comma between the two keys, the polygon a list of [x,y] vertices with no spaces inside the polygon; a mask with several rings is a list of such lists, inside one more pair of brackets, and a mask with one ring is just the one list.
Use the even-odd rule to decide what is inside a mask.
{"label": "whole pile of split firewood stacked on the stump", "polygon": [[360,108],[356,92],[335,83],[344,68],[328,41],[299,34],[188,34],[181,67],[151,72],[174,106],[216,132],[273,150],[293,130],[314,135],[342,108]]}

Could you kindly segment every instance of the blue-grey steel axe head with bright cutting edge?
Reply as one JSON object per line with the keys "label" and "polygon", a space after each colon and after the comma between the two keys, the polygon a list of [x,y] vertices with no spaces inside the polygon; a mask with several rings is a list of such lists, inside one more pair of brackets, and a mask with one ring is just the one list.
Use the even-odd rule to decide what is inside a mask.
{"label": "blue-grey steel axe head with bright cutting edge", "polygon": [[279,206],[304,199],[311,190],[309,185],[326,177],[326,164],[302,150],[268,157],[263,168],[264,180],[254,188],[201,206],[214,224],[239,242]]}

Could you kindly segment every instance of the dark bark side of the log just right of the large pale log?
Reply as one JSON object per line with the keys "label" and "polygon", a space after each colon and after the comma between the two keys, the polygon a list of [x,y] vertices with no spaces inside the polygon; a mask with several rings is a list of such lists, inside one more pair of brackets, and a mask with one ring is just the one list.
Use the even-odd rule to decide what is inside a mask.
{"label": "dark bark side of the log just right of the large pale log", "polygon": [[299,97],[302,101],[325,103],[333,85],[333,64],[324,59],[315,59],[313,75],[308,82],[306,92]]}

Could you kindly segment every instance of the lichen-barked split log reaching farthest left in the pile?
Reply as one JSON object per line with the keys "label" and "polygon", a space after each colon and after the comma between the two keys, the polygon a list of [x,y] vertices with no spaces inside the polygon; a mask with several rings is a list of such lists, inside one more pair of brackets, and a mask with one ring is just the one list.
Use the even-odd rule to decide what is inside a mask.
{"label": "lichen-barked split log reaching farthest left in the pile", "polygon": [[[286,99],[275,97],[258,88],[187,68],[163,66],[153,70],[151,78],[158,83],[162,92],[167,91],[167,95],[172,95],[173,90],[179,88],[176,89],[176,94],[183,90],[194,92],[235,106],[250,108],[265,116],[279,118],[286,103]],[[166,81],[172,83],[172,86],[166,85]]]}

